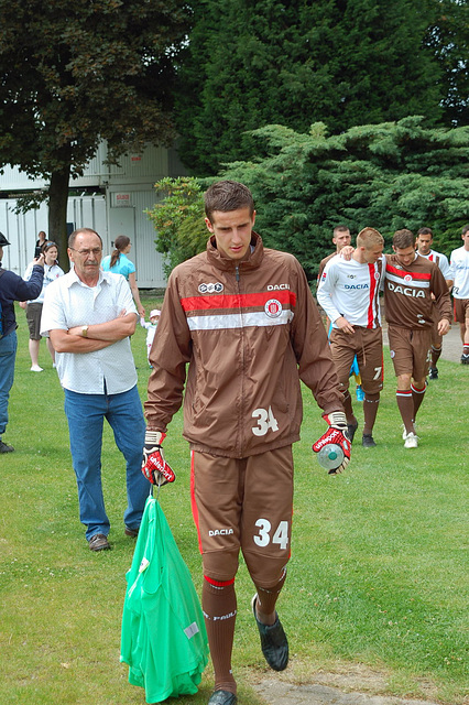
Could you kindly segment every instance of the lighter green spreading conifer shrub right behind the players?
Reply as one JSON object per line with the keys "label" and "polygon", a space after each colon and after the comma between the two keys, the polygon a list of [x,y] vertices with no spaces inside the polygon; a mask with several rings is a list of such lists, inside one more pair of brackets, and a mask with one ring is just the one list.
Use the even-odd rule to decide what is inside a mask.
{"label": "lighter green spreading conifer shrub right behind the players", "polygon": [[469,128],[429,129],[413,116],[340,135],[315,123],[307,134],[271,124],[253,137],[268,156],[222,176],[251,188],[264,241],[295,254],[310,279],[342,223],[352,235],[375,227],[388,242],[399,228],[426,226],[435,247],[458,246],[469,220]]}

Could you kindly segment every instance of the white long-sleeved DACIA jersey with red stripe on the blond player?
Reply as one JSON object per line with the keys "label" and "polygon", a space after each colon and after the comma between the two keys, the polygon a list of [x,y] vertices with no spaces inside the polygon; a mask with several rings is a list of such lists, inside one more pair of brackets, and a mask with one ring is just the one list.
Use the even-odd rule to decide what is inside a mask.
{"label": "white long-sleeved DACIA jersey with red stripe on the blond player", "polygon": [[337,254],[326,264],[317,291],[317,300],[337,328],[340,316],[352,326],[377,328],[381,325],[379,293],[384,273],[383,261],[360,264]]}

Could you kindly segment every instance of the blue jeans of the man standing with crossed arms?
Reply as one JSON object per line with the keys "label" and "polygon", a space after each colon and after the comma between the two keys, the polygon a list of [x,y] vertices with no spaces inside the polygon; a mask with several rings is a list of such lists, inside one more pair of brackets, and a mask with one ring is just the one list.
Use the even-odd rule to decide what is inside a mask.
{"label": "blue jeans of the man standing with crossed arms", "polygon": [[127,463],[128,506],[123,521],[137,529],[151,488],[141,471],[145,422],[137,387],[121,394],[79,394],[66,389],[65,414],[78,486],[79,518],[87,527],[87,540],[95,533],[108,535],[110,529],[101,484],[103,419]]}

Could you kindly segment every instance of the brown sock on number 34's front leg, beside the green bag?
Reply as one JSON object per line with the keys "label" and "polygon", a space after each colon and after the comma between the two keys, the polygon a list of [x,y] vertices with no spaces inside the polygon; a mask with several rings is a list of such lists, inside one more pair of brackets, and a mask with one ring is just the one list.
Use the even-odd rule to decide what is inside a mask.
{"label": "brown sock on number 34's front leg, beside the green bag", "polygon": [[236,693],[236,681],[231,671],[237,614],[234,581],[219,583],[205,577],[201,607],[215,671],[215,690]]}

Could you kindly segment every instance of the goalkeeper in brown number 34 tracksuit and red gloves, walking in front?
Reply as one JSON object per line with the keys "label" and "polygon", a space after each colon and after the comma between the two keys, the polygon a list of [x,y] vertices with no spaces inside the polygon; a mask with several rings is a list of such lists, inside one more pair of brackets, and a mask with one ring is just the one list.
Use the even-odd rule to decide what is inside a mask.
{"label": "goalkeeper in brown number 34 tracksuit and red gloves, walking in front", "polygon": [[[203,609],[215,670],[209,705],[233,705],[231,650],[240,550],[257,588],[252,608],[268,663],[282,671],[288,643],[275,611],[290,557],[292,444],[308,386],[347,465],[342,394],[326,333],[299,262],[265,249],[250,191],[237,182],[205,194],[207,250],[171,274],[150,354],[143,473],[161,454],[183,403],[190,444],[193,516],[203,554]],[[187,377],[186,377],[187,366]],[[337,442],[337,441],[336,441]]]}

